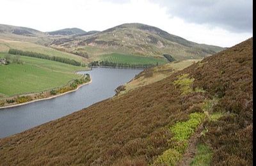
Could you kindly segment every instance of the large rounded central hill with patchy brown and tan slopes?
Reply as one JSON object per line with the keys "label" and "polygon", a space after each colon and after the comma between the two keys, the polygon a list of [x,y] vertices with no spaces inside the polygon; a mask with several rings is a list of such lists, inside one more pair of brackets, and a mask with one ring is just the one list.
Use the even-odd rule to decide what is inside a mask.
{"label": "large rounded central hill with patchy brown and tan slopes", "polygon": [[87,52],[92,59],[101,54],[119,53],[158,58],[170,54],[177,60],[184,60],[202,58],[223,50],[144,24],[122,24],[91,36],[77,36],[71,41],[56,39],[49,45],[57,49]]}

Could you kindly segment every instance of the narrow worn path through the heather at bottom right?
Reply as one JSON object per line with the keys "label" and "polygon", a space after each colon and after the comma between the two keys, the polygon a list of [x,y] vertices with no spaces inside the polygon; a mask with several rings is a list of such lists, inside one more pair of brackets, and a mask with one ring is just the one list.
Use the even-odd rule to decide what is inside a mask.
{"label": "narrow worn path through the heather at bottom right", "polygon": [[196,145],[198,143],[198,139],[201,136],[201,132],[204,130],[203,126],[204,122],[198,126],[196,132],[190,137],[188,142],[188,149],[185,151],[182,156],[182,160],[177,164],[179,166],[189,165],[192,162],[194,156],[196,155]]}

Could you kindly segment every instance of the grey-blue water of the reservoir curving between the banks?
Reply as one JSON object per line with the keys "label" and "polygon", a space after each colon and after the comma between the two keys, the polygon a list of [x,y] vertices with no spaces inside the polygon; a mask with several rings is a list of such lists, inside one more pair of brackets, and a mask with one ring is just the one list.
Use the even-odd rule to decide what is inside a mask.
{"label": "grey-blue water of the reservoir curving between the banks", "polygon": [[116,87],[125,84],[142,70],[93,68],[92,83],[63,96],[29,103],[19,107],[0,109],[0,138],[20,133],[39,124],[67,116],[115,94]]}

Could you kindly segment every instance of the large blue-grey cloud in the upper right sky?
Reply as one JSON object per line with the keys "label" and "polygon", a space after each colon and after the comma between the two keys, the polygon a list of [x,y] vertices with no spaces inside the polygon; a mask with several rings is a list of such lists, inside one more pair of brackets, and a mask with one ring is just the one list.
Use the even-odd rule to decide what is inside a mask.
{"label": "large blue-grey cloud in the upper right sky", "polygon": [[253,0],[150,0],[168,8],[169,15],[187,22],[218,26],[238,33],[253,31]]}

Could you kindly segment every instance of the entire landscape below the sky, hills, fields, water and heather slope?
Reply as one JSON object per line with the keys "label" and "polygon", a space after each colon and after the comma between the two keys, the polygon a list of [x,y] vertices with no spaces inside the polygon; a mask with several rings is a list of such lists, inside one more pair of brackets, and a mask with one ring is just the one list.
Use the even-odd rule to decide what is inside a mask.
{"label": "entire landscape below the sky, hills, fields, water and heather slope", "polygon": [[252,165],[252,59],[253,38],[0,24],[0,165]]}

